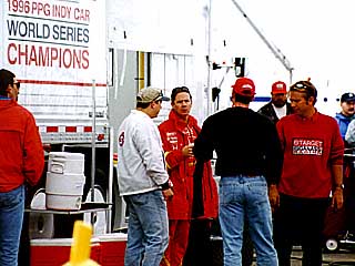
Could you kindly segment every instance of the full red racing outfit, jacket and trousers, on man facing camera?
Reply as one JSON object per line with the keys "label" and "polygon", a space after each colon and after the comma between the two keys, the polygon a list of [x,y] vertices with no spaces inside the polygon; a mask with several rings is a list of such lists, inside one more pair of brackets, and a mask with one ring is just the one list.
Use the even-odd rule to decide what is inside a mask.
{"label": "full red racing outfit, jacket and trousers, on man facing camera", "polygon": [[[164,121],[159,130],[165,152],[168,173],[174,191],[173,198],[166,201],[170,239],[161,266],[180,266],[189,243],[194,194],[193,175],[196,163],[193,156],[183,156],[182,149],[194,142],[201,129],[193,116],[189,115],[187,123],[185,123],[179,120],[175,111],[172,110],[169,120]],[[217,216],[217,190],[210,162],[203,165],[202,205],[204,213],[199,218]]]}

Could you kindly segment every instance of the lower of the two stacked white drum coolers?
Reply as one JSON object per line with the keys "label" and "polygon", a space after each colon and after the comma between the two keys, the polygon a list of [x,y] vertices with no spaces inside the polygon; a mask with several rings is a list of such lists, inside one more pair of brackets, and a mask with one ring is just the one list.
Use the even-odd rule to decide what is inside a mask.
{"label": "lower of the two stacked white drum coolers", "polygon": [[84,184],[83,174],[47,172],[45,207],[61,211],[80,209]]}

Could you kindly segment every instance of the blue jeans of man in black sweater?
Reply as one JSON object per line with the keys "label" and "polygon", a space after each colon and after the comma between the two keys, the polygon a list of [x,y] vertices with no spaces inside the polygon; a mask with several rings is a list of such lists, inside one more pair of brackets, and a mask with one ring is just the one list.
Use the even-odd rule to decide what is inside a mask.
{"label": "blue jeans of man in black sweater", "polygon": [[264,176],[225,176],[220,181],[220,224],[224,266],[242,265],[244,221],[256,252],[256,265],[277,266],[272,214]]}

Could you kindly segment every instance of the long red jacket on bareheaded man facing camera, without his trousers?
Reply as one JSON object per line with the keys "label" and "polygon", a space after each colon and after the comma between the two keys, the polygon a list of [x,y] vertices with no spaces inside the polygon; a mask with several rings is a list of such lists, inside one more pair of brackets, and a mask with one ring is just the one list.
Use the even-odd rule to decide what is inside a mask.
{"label": "long red jacket on bareheaded man facing camera, without his trousers", "polygon": [[[168,173],[173,183],[174,196],[168,201],[170,219],[190,219],[193,202],[194,157],[184,157],[182,149],[193,143],[201,129],[193,116],[189,116],[187,124],[179,121],[172,110],[169,120],[160,124],[163,149],[168,165]],[[202,193],[204,204],[203,217],[217,216],[217,190],[213,180],[211,163],[205,163],[202,177]]]}

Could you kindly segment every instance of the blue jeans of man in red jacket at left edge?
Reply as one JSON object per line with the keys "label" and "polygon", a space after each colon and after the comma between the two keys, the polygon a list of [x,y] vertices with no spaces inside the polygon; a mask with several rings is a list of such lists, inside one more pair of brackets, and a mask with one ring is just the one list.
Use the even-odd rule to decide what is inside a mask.
{"label": "blue jeans of man in red jacket at left edge", "polygon": [[0,265],[17,266],[24,212],[24,186],[0,193]]}

